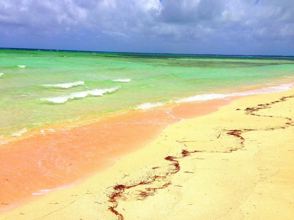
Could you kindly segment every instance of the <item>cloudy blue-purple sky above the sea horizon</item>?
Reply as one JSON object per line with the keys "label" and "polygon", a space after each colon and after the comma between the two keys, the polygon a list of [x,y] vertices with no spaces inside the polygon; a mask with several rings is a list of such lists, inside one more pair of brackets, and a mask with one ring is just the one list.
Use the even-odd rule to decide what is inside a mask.
{"label": "cloudy blue-purple sky above the sea horizon", "polygon": [[0,47],[294,55],[294,1],[1,0]]}

